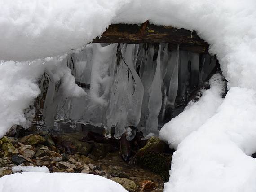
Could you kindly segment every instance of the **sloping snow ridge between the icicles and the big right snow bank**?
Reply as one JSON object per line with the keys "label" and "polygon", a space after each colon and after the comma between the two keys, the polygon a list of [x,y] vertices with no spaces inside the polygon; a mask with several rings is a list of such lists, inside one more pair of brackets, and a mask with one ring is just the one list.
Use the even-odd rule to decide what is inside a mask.
{"label": "sloping snow ridge between the icicles and the big right snow bank", "polygon": [[184,111],[166,123],[160,131],[160,137],[177,149],[178,144],[196,131],[209,118],[211,118],[223,102],[224,81],[220,74],[215,74],[210,79],[211,88],[203,90],[203,96],[198,102],[191,101]]}

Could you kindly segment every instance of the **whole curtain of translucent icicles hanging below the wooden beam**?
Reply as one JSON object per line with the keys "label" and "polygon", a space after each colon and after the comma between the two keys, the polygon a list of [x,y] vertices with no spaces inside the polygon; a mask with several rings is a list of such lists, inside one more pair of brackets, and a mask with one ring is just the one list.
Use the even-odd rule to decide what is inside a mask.
{"label": "whole curtain of translucent icicles hanging below the wooden beam", "polygon": [[[208,54],[168,50],[167,43],[88,44],[67,57],[75,82],[87,94],[64,94],[57,71],[47,71],[49,85],[44,105],[45,124],[53,119],[70,127],[90,124],[104,127],[106,136],[123,134],[131,140],[136,131],[145,138],[181,111],[216,66]],[[190,96],[192,95],[192,96]]]}

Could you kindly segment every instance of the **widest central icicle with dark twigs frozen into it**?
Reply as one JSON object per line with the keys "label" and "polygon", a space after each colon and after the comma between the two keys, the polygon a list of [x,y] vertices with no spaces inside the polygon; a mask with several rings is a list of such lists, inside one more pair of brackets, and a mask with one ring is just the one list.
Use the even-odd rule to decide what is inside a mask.
{"label": "widest central icicle with dark twigs frozen into it", "polygon": [[107,132],[115,126],[115,138],[127,132],[128,140],[134,137],[131,127],[137,127],[143,99],[143,85],[133,63],[135,49],[137,45],[134,44],[118,44],[116,73],[106,116]]}

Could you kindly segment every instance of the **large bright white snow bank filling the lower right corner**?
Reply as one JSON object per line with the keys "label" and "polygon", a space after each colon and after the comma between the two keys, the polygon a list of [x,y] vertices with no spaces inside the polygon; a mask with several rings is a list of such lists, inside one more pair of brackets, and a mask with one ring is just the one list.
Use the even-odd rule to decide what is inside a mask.
{"label": "large bright white snow bank filling the lower right corner", "polygon": [[256,191],[256,92],[232,87],[212,118],[173,154],[167,192]]}

